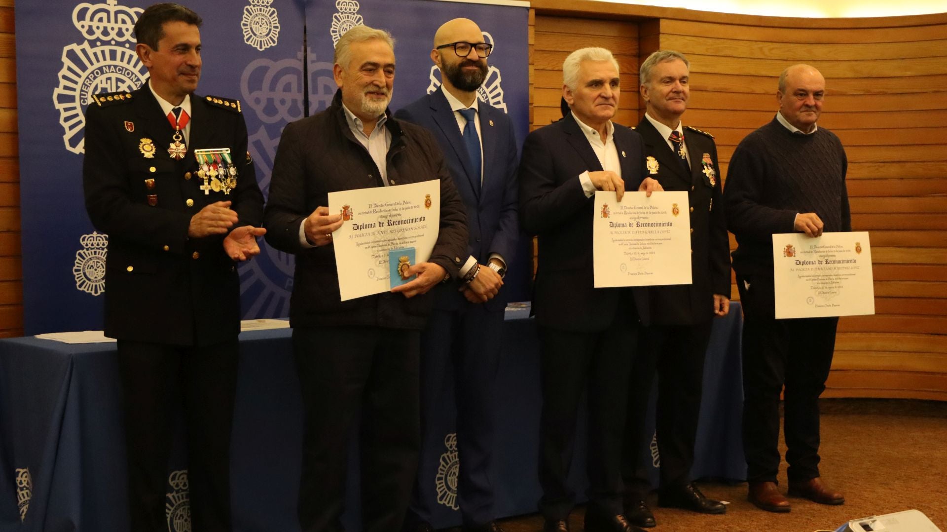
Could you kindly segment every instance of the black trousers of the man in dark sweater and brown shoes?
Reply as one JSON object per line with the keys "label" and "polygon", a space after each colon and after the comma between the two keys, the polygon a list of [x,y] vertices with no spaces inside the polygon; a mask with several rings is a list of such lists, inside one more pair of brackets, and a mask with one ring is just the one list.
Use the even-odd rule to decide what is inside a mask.
{"label": "black trousers of the man in dark sweater and brown shoes", "polygon": [[[772,275],[738,276],[743,304],[743,450],[750,482],[776,482],[779,393],[783,392],[786,473],[790,481],[819,476],[819,395],[835,350],[838,318],[776,320],[764,306]],[[768,282],[767,282],[768,281]],[[768,291],[768,293],[763,293]]]}

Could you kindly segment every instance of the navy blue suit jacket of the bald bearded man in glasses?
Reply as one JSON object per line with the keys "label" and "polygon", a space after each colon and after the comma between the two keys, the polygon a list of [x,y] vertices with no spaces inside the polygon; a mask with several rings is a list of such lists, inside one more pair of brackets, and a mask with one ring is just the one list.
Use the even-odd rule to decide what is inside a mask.
{"label": "navy blue suit jacket of the bald bearded man in glasses", "polygon": [[[395,113],[395,118],[423,126],[438,139],[457,192],[467,207],[467,226],[470,231],[468,253],[484,265],[491,253],[499,253],[506,261],[512,261],[520,232],[517,215],[517,143],[513,122],[503,111],[490,104],[483,101],[477,103],[483,144],[483,184],[478,186],[480,175],[474,175],[473,164],[457,127],[454,111],[443,91],[443,87],[440,87],[406,105]],[[466,261],[466,257],[462,260]],[[435,299],[438,308],[456,309],[468,304],[457,291],[457,284],[439,285],[435,290],[438,292]],[[495,298],[484,304],[491,309],[505,307],[505,292],[501,288]]]}

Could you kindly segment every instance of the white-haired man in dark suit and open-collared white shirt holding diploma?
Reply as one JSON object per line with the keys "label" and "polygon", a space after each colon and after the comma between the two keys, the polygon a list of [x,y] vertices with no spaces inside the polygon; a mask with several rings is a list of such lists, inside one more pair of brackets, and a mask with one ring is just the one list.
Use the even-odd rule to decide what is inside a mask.
{"label": "white-haired man in dark suit and open-collared white shirt holding diploma", "polygon": [[569,530],[567,485],[579,400],[588,394],[589,504],[585,530],[629,532],[621,507],[621,443],[628,372],[648,322],[647,289],[596,288],[592,220],[596,191],[661,190],[645,178],[644,143],[612,122],[618,64],[604,48],[581,48],[563,64],[565,117],[527,136],[520,164],[520,220],[539,237],[533,312],[539,326],[543,413],[540,511],[545,532]]}

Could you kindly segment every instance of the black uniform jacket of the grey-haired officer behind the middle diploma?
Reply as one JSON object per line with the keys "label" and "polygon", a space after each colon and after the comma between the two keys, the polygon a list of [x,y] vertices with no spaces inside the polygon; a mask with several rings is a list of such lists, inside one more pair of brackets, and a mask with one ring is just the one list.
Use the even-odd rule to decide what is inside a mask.
{"label": "black uniform jacket of the grey-haired officer behind the middle diploma", "polygon": [[[658,163],[651,177],[665,191],[688,193],[690,215],[691,284],[652,286],[649,291],[652,323],[690,325],[714,317],[713,295],[730,297],[730,243],[726,234],[723,184],[717,145],[703,131],[684,128],[684,142],[690,156],[690,172],[685,174],[680,157],[647,118],[637,131],[645,140],[645,154]],[[709,155],[707,168],[704,155]],[[710,178],[710,170],[713,179]],[[683,206],[682,206],[683,211]]]}

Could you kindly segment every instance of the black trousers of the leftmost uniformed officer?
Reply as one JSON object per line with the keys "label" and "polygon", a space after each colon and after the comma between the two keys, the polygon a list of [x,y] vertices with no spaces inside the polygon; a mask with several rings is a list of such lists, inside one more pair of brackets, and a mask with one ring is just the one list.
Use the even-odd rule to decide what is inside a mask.
{"label": "black trousers of the leftmost uniformed officer", "polygon": [[207,347],[118,340],[117,347],[125,397],[131,529],[168,530],[168,460],[183,403],[192,529],[229,532],[237,339]]}

